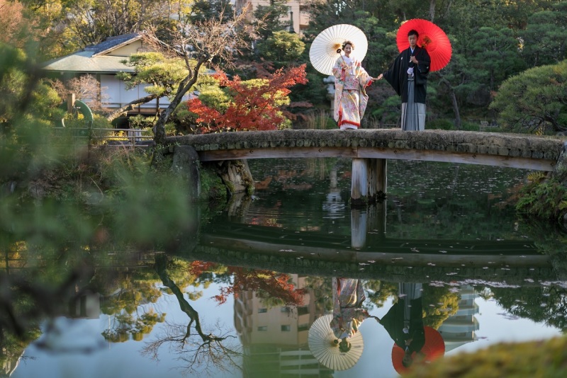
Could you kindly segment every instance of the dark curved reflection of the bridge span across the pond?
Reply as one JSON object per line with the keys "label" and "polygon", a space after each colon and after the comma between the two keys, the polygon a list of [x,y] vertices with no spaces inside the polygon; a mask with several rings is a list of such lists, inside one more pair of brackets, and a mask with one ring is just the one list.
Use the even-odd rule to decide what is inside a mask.
{"label": "dark curved reflection of the bridge span across the pond", "polygon": [[335,234],[229,223],[208,227],[190,258],[286,273],[391,282],[483,280],[537,285],[538,280],[561,279],[551,258],[529,240],[408,240],[378,235],[369,238],[364,247],[352,248],[349,237]]}

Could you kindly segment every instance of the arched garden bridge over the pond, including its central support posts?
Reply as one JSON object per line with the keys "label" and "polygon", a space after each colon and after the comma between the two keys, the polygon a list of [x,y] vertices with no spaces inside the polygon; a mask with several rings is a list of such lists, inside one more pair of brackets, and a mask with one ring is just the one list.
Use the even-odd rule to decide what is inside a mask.
{"label": "arched garden bridge over the pond, including its central support posts", "polygon": [[352,200],[386,193],[386,159],[447,161],[553,171],[563,140],[526,134],[399,129],[278,130],[169,137],[201,161],[297,157],[352,158]]}

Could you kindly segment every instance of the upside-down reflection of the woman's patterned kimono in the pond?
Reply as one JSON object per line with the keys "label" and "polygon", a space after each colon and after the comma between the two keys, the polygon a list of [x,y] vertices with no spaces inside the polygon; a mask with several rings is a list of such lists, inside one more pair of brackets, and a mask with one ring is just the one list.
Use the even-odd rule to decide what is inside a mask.
{"label": "upside-down reflection of the woman's patterned kimono in the pond", "polygon": [[366,296],[359,280],[344,277],[332,279],[332,321],[330,327],[335,337],[347,340],[358,332],[360,323],[369,317],[362,308]]}

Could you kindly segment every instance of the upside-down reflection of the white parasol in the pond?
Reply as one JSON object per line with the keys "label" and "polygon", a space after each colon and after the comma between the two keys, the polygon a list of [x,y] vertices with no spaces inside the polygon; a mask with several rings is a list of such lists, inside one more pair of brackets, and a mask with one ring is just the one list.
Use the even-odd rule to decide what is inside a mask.
{"label": "upside-down reflection of the white parasol in the pond", "polygon": [[321,316],[309,328],[309,349],[325,367],[332,370],[347,370],[353,367],[362,355],[364,340],[358,331],[352,338],[347,339],[351,343],[350,350],[342,353],[337,342],[340,340],[337,340],[329,325],[331,320],[332,314]]}

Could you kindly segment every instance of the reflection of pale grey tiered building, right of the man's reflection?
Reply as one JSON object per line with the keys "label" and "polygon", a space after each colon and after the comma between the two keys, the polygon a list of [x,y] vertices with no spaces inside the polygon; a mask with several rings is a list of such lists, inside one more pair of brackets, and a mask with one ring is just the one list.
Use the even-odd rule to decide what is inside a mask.
{"label": "reflection of pale grey tiered building, right of the man's reflection", "polygon": [[474,300],[478,294],[470,285],[461,286],[459,293],[459,311],[444,321],[438,330],[445,340],[446,352],[476,340],[474,332],[478,330],[478,321],[474,315],[478,314],[478,305]]}

